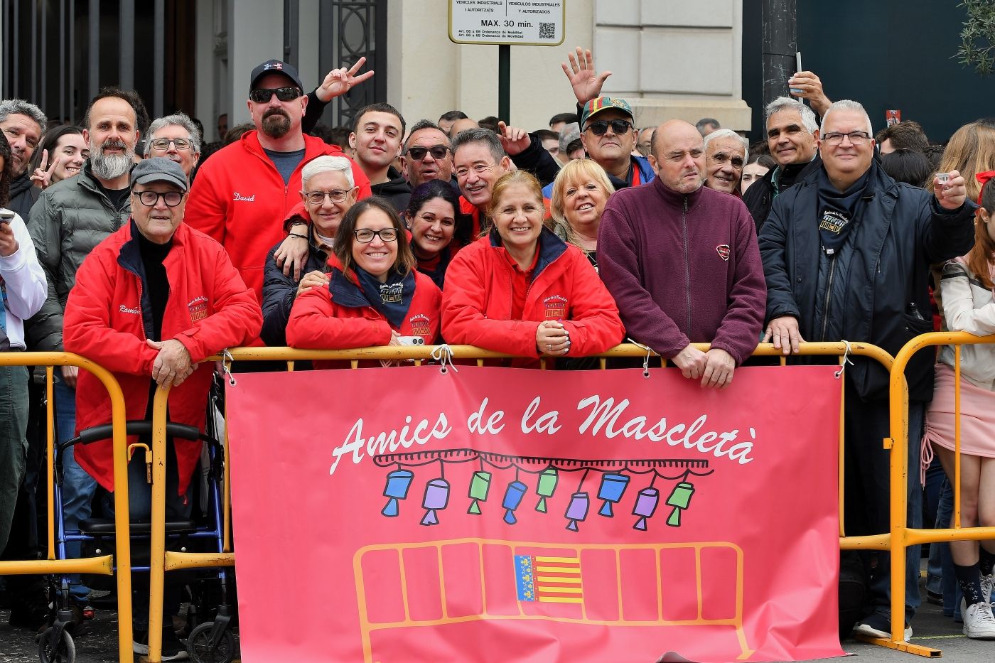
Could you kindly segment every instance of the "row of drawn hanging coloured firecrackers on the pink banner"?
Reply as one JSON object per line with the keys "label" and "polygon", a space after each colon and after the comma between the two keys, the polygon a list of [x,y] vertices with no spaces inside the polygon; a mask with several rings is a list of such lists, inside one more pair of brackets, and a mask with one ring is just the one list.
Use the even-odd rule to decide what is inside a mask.
{"label": "row of drawn hanging coloured firecrackers on the pink banner", "polygon": [[[467,491],[470,500],[467,514],[481,516],[491,497],[491,487],[497,480],[496,472],[511,472],[513,478],[504,488],[500,501],[503,510],[501,519],[509,526],[518,522],[517,512],[525,500],[534,477],[534,491],[538,500],[534,511],[539,514],[548,513],[548,500],[556,495],[557,489],[566,475],[580,473],[580,481],[576,490],[570,494],[566,510],[563,514],[566,529],[579,532],[580,524],[587,521],[591,509],[591,494],[585,490],[585,483],[600,475],[597,493],[594,499],[600,501],[600,508],[595,505],[598,516],[615,518],[617,509],[628,511],[623,506],[630,485],[641,483],[639,479],[649,475],[647,486],[636,492],[632,502],[631,515],[635,516],[632,528],[641,532],[649,529],[650,520],[660,507],[661,491],[658,481],[676,482],[670,487],[670,493],[664,501],[664,506],[670,507],[666,523],[669,527],[681,527],[682,517],[691,507],[692,497],[697,487],[694,480],[710,475],[714,470],[708,469],[707,460],[684,459],[638,459],[638,460],[578,460],[567,458],[548,458],[538,456],[508,456],[475,449],[444,449],[436,451],[417,451],[410,453],[387,454],[373,457],[377,467],[394,468],[387,473],[383,496],[387,503],[380,512],[387,518],[397,518],[401,514],[401,502],[407,500],[415,471],[412,468],[434,467],[438,463],[439,473],[432,476],[425,484],[422,498],[421,525],[439,524],[440,512],[444,511],[450,502],[450,483],[446,480],[447,465],[459,463],[478,463],[479,468],[473,473]],[[595,477],[591,477],[591,473]],[[593,487],[592,487],[593,488]]]}

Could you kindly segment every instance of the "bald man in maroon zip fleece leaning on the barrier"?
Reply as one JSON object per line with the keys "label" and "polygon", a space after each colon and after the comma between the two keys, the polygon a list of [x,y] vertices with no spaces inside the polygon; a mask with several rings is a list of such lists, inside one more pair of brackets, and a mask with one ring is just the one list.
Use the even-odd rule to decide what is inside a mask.
{"label": "bald man in maroon zip fleece leaning on the barrier", "polygon": [[[742,201],[706,188],[694,124],[654,137],[656,179],[617,191],[601,216],[598,263],[629,336],[702,386],[725,387],[756,347],[766,306],[756,230]],[[711,343],[707,352],[692,343]]]}

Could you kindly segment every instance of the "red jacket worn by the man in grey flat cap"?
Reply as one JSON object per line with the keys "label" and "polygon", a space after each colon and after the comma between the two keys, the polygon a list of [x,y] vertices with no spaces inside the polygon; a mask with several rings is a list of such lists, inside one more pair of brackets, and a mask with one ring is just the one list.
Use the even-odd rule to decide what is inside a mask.
{"label": "red jacket worn by the man in grey flat cap", "polygon": [[[158,350],[145,339],[152,330],[151,304],[144,284],[134,222],[105,238],[80,266],[66,303],[63,342],[108,369],[124,392],[125,416],[144,419],[152,362]],[[244,345],[259,335],[263,314],[220,244],[180,224],[163,261],[169,300],[161,339],[176,339],[194,363],[225,347]],[[200,366],[169,393],[171,421],[204,429],[212,362]],[[110,398],[92,373],[80,371],[76,389],[77,431],[109,423]],[[128,443],[135,441],[128,439]],[[175,440],[182,495],[200,457],[200,442]],[[114,489],[110,440],[81,445],[76,460],[108,491]]]}

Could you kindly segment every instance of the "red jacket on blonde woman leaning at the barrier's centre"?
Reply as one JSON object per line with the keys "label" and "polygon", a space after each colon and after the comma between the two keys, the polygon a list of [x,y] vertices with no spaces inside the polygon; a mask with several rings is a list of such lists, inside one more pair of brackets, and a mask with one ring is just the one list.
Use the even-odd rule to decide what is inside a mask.
{"label": "red jacket on blonde woman leaning at the barrier's centre", "polygon": [[522,320],[509,320],[513,272],[497,231],[460,251],[446,272],[446,341],[537,357],[538,323],[558,320],[570,333],[569,356],[597,354],[621,342],[618,308],[584,254],[545,228],[538,251]]}

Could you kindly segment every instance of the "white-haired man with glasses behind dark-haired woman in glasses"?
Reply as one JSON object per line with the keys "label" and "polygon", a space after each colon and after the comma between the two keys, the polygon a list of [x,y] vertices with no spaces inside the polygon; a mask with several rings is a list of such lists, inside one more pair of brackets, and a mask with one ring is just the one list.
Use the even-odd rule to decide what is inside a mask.
{"label": "white-haired man with glasses behind dark-haired woman in glasses", "polygon": [[287,344],[287,321],[294,300],[300,293],[328,283],[325,263],[335,242],[335,232],[359,192],[352,178],[352,162],[344,156],[314,158],[300,171],[300,182],[301,202],[291,210],[284,226],[292,235],[299,233],[307,240],[307,260],[298,282],[277,265],[280,244],[266,258],[261,336],[267,345]]}

